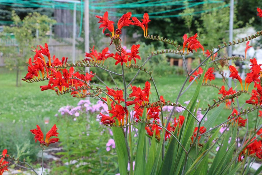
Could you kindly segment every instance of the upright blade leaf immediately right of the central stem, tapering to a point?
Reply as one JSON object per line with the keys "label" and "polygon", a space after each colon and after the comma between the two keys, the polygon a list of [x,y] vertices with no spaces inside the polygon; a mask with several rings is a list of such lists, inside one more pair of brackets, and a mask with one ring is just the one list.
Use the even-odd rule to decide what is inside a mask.
{"label": "upright blade leaf immediately right of the central stem, tapering to a point", "polygon": [[[146,119],[146,108],[143,110],[142,118]],[[145,174],[145,123],[139,123],[138,141],[137,141],[137,154],[135,156],[134,174]]]}

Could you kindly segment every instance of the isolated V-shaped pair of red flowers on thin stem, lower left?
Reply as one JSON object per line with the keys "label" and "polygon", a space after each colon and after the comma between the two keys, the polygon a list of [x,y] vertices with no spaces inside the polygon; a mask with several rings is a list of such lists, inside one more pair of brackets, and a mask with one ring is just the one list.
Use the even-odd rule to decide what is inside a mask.
{"label": "isolated V-shaped pair of red flowers on thin stem, lower left", "polygon": [[53,125],[53,127],[46,133],[46,138],[44,140],[43,137],[43,132],[41,131],[40,126],[36,125],[36,129],[32,129],[30,130],[30,132],[32,132],[33,135],[35,135],[35,142],[38,140],[40,142],[40,144],[45,145],[46,147],[51,144],[51,143],[55,143],[58,142],[58,138],[51,138],[52,136],[57,137],[58,132],[57,132],[57,127],[56,124]]}

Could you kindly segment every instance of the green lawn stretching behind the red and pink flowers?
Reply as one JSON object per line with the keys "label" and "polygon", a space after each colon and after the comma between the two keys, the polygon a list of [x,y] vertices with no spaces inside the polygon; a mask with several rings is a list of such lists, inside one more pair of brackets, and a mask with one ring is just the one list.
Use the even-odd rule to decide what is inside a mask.
{"label": "green lawn stretching behind the red and pink flowers", "polygon": [[[22,73],[25,75],[26,72]],[[141,72],[143,73],[143,72]],[[154,73],[153,73],[154,75]],[[40,91],[39,86],[47,84],[47,82],[37,82],[37,83],[26,83],[22,81],[21,86],[15,86],[15,73],[2,73],[0,74],[0,96],[3,100],[0,102],[1,111],[0,111],[0,121],[1,122],[19,122],[26,123],[31,120],[35,123],[31,127],[34,127],[37,123],[43,122],[45,117],[50,118],[50,123],[56,122],[56,117],[54,115],[57,113],[58,109],[65,105],[76,105],[79,99],[72,98],[70,94],[65,94],[63,96],[57,96],[54,91],[46,90]],[[155,75],[154,77],[159,94],[164,97],[166,100],[174,102],[178,95],[178,92],[184,82],[185,76],[182,75],[168,75],[161,76]],[[150,81],[150,80],[149,80]],[[221,79],[215,79],[212,83],[221,87],[224,83]],[[187,82],[186,86],[189,83]],[[234,83],[232,83],[234,84]],[[136,86],[143,87],[144,84],[135,84]],[[194,89],[196,88],[196,83],[194,82],[190,89],[184,93],[178,100],[179,103],[184,104],[184,101],[190,100],[194,94]],[[113,86],[113,85],[112,85]],[[252,85],[250,85],[252,86]],[[157,101],[157,96],[153,84],[151,84],[152,95],[150,96],[150,101]],[[250,91],[252,88],[249,89]],[[206,108],[209,104],[213,104],[213,99],[217,99],[220,95],[218,94],[218,89],[215,87],[202,86],[199,100],[200,107]],[[245,100],[249,99],[250,95],[242,94],[238,100],[239,104],[242,105],[245,103]],[[235,107],[237,103],[235,100]],[[250,104],[246,104],[245,108]],[[210,112],[209,114],[211,114]],[[219,124],[222,121],[225,121],[227,117],[231,114],[231,110],[223,110],[216,119],[216,123]],[[212,117],[207,115],[208,117]],[[254,125],[256,112],[248,114],[249,116],[249,127]],[[244,117],[243,117],[244,118]]]}

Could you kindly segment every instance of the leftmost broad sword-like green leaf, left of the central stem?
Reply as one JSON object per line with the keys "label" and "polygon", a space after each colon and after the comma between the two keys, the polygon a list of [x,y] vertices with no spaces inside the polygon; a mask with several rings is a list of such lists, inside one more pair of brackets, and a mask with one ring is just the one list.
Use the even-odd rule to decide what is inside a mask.
{"label": "leftmost broad sword-like green leaf, left of the central stem", "polygon": [[[109,97],[106,96],[107,102],[110,102]],[[108,103],[108,110],[111,109],[110,104]],[[109,113],[110,116],[112,114]],[[116,120],[117,121],[117,120]],[[112,127],[113,138],[116,145],[117,159],[119,165],[119,172],[121,175],[127,174],[127,162],[128,162],[128,153],[127,147],[125,145],[125,137],[122,128]]]}

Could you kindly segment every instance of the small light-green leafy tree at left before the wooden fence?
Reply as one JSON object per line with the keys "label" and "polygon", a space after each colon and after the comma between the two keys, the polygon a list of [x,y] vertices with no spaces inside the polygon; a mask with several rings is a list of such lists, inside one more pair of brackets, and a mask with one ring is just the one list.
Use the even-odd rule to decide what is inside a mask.
{"label": "small light-green leafy tree at left before the wooden fence", "polygon": [[19,73],[25,66],[25,58],[31,54],[28,48],[34,45],[34,41],[44,42],[46,34],[50,30],[50,24],[54,24],[56,21],[37,12],[29,13],[21,20],[14,11],[12,12],[12,20],[14,25],[4,26],[1,38],[8,39],[10,35],[13,35],[16,46],[2,43],[1,49],[7,67],[17,70],[16,85],[18,86],[18,79],[21,79]]}

